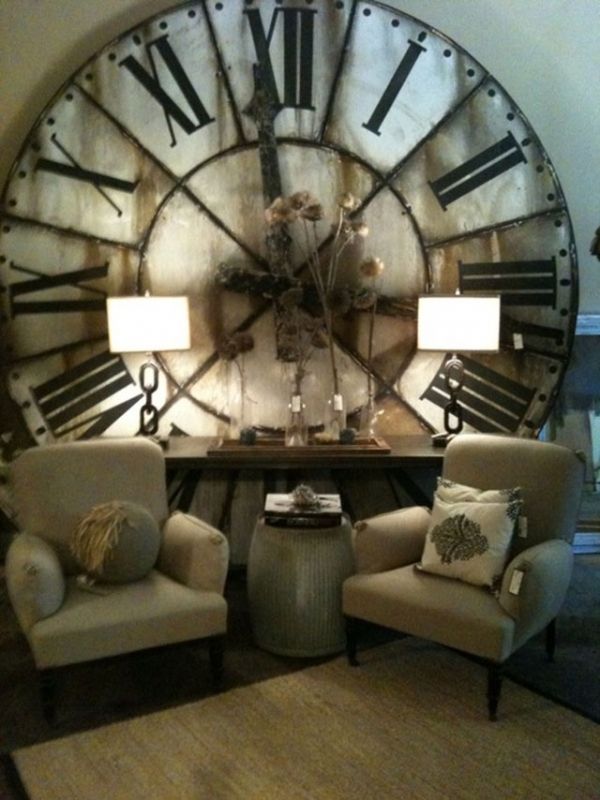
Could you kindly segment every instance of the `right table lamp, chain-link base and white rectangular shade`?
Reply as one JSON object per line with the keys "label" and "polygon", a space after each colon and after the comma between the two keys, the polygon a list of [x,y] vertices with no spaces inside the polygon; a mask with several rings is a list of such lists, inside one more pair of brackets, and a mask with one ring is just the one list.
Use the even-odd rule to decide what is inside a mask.
{"label": "right table lamp, chain-link base and white rectangular shade", "polygon": [[458,394],[465,383],[460,352],[495,353],[500,347],[499,295],[424,295],[419,297],[417,320],[419,350],[445,350],[444,383],[448,402],[444,408],[444,433],[432,437],[445,447],[463,427]]}

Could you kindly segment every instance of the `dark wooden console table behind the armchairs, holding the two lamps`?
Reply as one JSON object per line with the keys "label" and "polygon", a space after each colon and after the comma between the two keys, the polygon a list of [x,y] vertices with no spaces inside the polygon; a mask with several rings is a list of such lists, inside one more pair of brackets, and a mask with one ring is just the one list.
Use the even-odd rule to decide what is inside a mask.
{"label": "dark wooden console table behind the armchairs, holding the two lamps", "polygon": [[165,449],[171,508],[191,511],[229,538],[233,564],[247,563],[254,520],[269,492],[298,483],[339,494],[351,520],[408,505],[429,505],[444,451],[427,435],[385,436],[381,450],[341,445],[271,448],[260,445],[215,452],[212,437],[174,437]]}

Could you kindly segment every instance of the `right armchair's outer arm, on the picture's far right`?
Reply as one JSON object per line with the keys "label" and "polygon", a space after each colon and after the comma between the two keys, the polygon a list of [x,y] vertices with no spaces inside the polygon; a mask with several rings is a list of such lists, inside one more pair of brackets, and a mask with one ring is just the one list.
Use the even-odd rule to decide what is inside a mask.
{"label": "right armchair's outer arm, on the picture's far right", "polygon": [[[524,573],[516,595],[509,591],[515,570]],[[504,572],[498,600],[516,621],[517,647],[556,617],[572,572],[573,551],[571,545],[562,539],[551,539],[529,547],[510,562]]]}

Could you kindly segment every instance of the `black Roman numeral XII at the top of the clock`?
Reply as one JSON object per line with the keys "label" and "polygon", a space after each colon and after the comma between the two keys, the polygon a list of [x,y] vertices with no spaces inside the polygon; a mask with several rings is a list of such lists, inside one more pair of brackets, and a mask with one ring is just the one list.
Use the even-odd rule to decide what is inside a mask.
{"label": "black Roman numeral XII at the top of the clock", "polygon": [[[317,12],[307,8],[276,8],[265,32],[260,11],[245,9],[256,50],[260,81],[276,105],[314,110],[313,50]],[[283,101],[279,97],[270,46],[278,20],[283,19]]]}

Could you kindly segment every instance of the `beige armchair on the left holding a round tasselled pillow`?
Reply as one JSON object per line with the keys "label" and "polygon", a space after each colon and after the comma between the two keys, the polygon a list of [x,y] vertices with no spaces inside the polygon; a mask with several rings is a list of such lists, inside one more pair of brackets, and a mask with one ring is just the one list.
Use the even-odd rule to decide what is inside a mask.
{"label": "beige armchair on the left holding a round tasselled pillow", "polygon": [[[157,444],[98,439],[32,448],[14,462],[11,482],[20,533],[6,558],[7,586],[41,674],[49,720],[55,672],[77,662],[206,639],[219,683],[228,543],[195,517],[169,514],[165,459]],[[142,506],[154,517],[158,559],[139,580],[82,585],[69,539],[82,515],[115,500]]]}

